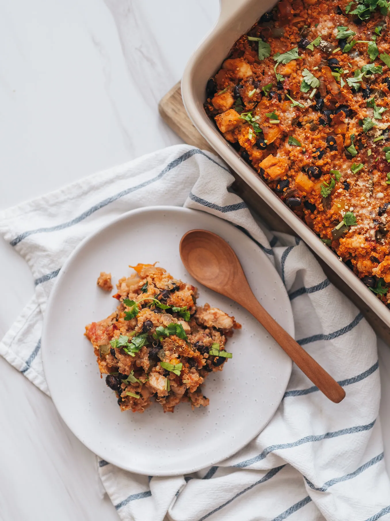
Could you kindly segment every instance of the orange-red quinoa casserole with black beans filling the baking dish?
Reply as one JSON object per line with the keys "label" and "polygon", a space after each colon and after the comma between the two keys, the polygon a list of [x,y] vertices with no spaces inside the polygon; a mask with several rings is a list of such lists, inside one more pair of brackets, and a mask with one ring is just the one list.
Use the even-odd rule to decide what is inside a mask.
{"label": "orange-red quinoa casserole with black beans filling the baking dish", "polygon": [[281,0],[207,82],[205,110],[390,307],[389,5]]}

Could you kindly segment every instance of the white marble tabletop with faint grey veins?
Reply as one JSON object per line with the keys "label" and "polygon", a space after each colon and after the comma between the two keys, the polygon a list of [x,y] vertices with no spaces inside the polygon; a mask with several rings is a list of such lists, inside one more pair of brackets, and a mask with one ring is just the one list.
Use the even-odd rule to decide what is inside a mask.
{"label": "white marble tabletop with faint grey veins", "polygon": [[[158,115],[218,0],[0,0],[0,209],[179,138]],[[0,337],[33,293],[0,241]],[[390,350],[380,346],[390,470]],[[95,456],[0,357],[0,519],[118,521]]]}

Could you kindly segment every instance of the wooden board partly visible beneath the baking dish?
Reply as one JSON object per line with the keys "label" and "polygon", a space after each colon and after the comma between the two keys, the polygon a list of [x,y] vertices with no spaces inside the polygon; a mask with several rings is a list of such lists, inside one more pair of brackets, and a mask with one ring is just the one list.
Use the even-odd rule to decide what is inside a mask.
{"label": "wooden board partly visible beneath the baking dish", "polygon": [[[180,82],[177,83],[165,96],[162,98],[159,104],[159,111],[161,117],[167,123],[167,125],[181,138],[185,143],[189,145],[197,146],[202,150],[208,150],[216,154],[211,148],[210,144],[202,137],[198,130],[192,125],[190,118],[187,116],[186,109],[181,99]],[[232,175],[235,178],[233,183],[233,190],[245,201],[245,203],[256,212],[267,224],[271,230],[280,231],[284,233],[296,233],[289,227],[289,225],[283,221],[275,212],[272,210],[259,195],[257,195],[240,176],[233,170]],[[314,253],[314,252],[313,252]],[[390,328],[376,315],[372,309],[360,299],[360,297],[344,282],[344,280],[336,275],[335,272],[322,261],[315,253],[317,261],[320,263],[324,273],[327,275],[329,280],[339,288],[353,303],[360,309],[363,315],[366,317],[368,322],[371,324],[374,331],[379,334],[380,337],[387,343],[390,343]]]}

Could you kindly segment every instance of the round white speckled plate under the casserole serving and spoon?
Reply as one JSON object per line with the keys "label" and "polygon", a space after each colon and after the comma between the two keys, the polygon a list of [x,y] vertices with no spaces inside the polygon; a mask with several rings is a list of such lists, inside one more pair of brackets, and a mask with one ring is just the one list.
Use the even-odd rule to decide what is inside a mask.
{"label": "round white speckled plate under the casserole serving and spoon", "polygon": [[[51,398],[65,423],[90,450],[118,467],[149,476],[187,474],[231,456],[251,441],[278,407],[291,360],[258,322],[236,303],[200,286],[179,256],[185,232],[217,233],[235,250],[257,299],[294,335],[290,301],[267,255],[226,221],[197,210],[148,207],[133,210],[84,240],[62,267],[47,305],[42,356]],[[100,271],[113,282],[153,263],[199,290],[209,302],[242,324],[228,340],[233,353],[224,370],[211,374],[203,393],[208,407],[181,403],[163,413],[153,404],[143,414],[121,412],[115,393],[100,379],[84,327],[105,318],[118,304],[96,286]]]}

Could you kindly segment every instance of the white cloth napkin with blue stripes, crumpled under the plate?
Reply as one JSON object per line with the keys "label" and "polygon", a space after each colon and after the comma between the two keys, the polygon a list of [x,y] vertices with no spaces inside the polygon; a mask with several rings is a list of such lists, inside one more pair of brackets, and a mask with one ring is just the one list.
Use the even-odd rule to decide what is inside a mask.
{"label": "white cloth napkin with blue stripes, crumpled under the plate", "polygon": [[269,424],[216,466],[188,476],[147,477],[98,460],[101,481],[120,518],[390,519],[375,334],[324,276],[305,244],[259,224],[229,191],[232,181],[219,158],[178,145],[2,212],[0,232],[29,264],[36,290],[0,343],[0,353],[48,393],[40,353],[42,318],[55,278],[74,247],[113,218],[142,206],[184,205],[222,217],[249,235],[276,266],[290,296],[297,341],[345,387],[346,398],[330,402],[294,366]]}

